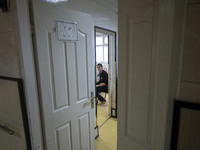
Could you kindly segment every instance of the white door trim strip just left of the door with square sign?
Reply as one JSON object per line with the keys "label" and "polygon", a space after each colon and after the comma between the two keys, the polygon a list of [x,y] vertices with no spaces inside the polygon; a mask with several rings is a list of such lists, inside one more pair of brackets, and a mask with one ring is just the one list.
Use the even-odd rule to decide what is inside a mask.
{"label": "white door trim strip just left of the door with square sign", "polygon": [[30,29],[28,0],[16,0],[18,40],[21,48],[22,78],[29,120],[32,150],[43,150],[40,108]]}

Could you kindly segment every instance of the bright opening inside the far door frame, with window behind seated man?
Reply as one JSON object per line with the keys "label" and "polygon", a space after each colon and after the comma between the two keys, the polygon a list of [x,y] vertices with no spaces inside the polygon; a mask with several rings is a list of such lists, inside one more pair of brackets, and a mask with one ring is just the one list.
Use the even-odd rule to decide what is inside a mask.
{"label": "bright opening inside the far door frame, with window behind seated man", "polygon": [[[102,77],[98,69],[96,69],[96,84],[100,82],[107,82],[106,85],[101,87],[96,87],[96,91],[98,89],[103,89],[103,91],[99,92],[99,96],[97,96],[96,100],[96,124],[100,128],[109,118],[109,102],[110,102],[110,84],[108,84],[108,79],[110,76],[109,70],[109,51],[108,51],[108,34],[103,32],[96,31],[96,65],[102,65],[103,72],[105,74],[106,81],[102,81]],[[98,92],[97,92],[98,93]],[[101,97],[101,100],[100,100]]]}

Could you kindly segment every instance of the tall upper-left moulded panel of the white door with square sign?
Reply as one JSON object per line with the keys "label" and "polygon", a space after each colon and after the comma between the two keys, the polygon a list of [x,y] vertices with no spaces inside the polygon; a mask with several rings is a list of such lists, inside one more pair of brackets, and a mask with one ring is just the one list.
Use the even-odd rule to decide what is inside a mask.
{"label": "tall upper-left moulded panel of the white door with square sign", "polygon": [[48,30],[48,54],[51,73],[51,89],[54,110],[68,106],[69,84],[66,63],[66,44],[56,39],[54,31]]}

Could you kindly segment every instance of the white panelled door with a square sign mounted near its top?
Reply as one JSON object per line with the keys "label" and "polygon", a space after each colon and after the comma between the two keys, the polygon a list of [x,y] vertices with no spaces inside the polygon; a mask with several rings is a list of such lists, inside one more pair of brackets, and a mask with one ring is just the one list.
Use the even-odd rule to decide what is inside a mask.
{"label": "white panelled door with a square sign mounted near its top", "polygon": [[[36,62],[47,150],[93,150],[94,50],[91,16],[67,2],[33,0]],[[77,22],[78,40],[59,41],[56,20]]]}

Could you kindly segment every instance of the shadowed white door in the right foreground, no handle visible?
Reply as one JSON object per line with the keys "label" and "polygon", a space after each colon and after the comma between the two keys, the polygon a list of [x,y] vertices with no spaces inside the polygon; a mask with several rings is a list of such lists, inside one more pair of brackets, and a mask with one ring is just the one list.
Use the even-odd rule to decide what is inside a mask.
{"label": "shadowed white door in the right foreground, no handle visible", "polygon": [[172,69],[180,61],[180,49],[172,50],[174,4],[119,1],[118,150],[169,147],[178,81]]}

